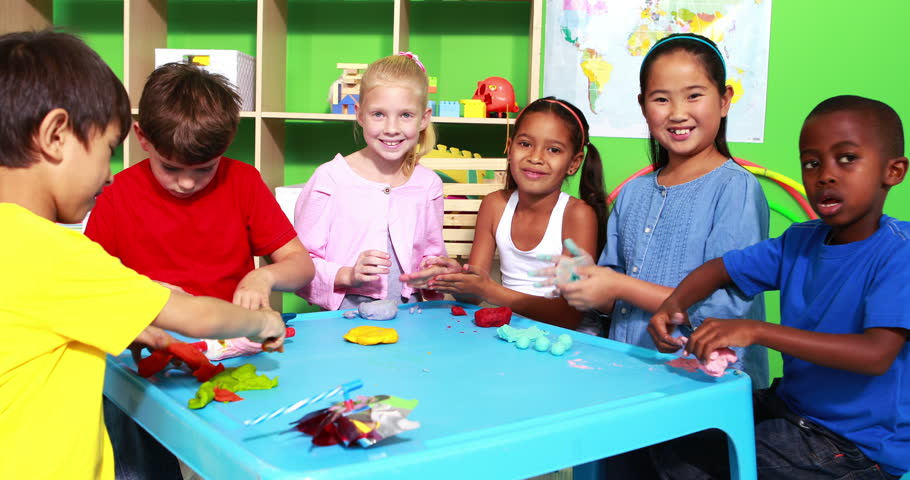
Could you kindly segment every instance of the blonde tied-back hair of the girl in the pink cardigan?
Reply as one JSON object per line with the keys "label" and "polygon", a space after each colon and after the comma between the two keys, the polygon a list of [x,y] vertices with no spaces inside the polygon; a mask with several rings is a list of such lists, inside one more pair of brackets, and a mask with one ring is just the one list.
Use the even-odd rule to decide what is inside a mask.
{"label": "blonde tied-back hair of the girl in the pink cardigan", "polygon": [[[423,68],[416,61],[404,55],[390,55],[371,63],[360,81],[360,104],[363,105],[367,95],[376,87],[412,86],[417,93],[417,102],[421,105],[420,115],[426,111],[429,94],[429,79]],[[421,157],[436,146],[436,129],[432,118],[427,128],[420,132],[417,146],[404,160],[401,171],[410,176]]]}

